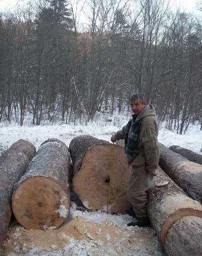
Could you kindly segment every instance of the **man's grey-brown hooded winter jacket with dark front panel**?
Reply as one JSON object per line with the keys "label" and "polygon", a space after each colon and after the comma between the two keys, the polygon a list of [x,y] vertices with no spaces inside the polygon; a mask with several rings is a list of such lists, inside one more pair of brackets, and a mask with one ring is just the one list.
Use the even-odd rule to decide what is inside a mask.
{"label": "man's grey-brown hooded winter jacket with dark front panel", "polygon": [[137,117],[132,115],[132,119],[117,132],[116,136],[117,139],[125,139],[126,159],[129,165],[145,165],[149,171],[158,168],[158,124],[153,105],[147,105]]}

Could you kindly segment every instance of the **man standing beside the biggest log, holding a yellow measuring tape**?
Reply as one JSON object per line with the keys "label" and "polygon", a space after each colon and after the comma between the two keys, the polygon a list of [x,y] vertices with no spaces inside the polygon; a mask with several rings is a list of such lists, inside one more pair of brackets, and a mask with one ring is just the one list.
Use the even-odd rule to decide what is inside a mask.
{"label": "man standing beside the biggest log, holding a yellow measuring tape", "polygon": [[132,166],[128,197],[136,218],[128,226],[145,227],[150,224],[146,212],[146,190],[156,175],[155,169],[159,163],[158,124],[155,108],[146,103],[144,94],[133,94],[129,102],[132,118],[117,134],[111,136],[111,141],[125,139],[126,160]]}

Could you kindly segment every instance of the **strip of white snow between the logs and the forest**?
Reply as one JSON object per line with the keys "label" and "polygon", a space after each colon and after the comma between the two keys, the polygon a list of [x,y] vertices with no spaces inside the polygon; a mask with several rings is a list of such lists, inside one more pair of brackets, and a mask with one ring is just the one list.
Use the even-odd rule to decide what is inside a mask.
{"label": "strip of white snow between the logs and the forest", "polygon": [[[57,138],[69,146],[70,141],[74,136],[78,135],[92,135],[98,139],[105,139],[110,141],[111,135],[121,129],[126,124],[125,118],[119,122],[119,127],[111,125],[110,123],[95,123],[91,122],[88,125],[44,125],[44,126],[23,126],[19,125],[1,125],[0,127],[0,152],[8,149],[13,142],[18,139],[28,139],[32,142],[36,149],[39,148],[42,142],[49,138]],[[176,134],[176,132],[169,131],[163,125],[159,129],[158,141],[165,146],[179,145],[187,149],[191,149],[196,153],[201,153],[202,148],[202,131],[200,125],[191,125],[186,134]]]}

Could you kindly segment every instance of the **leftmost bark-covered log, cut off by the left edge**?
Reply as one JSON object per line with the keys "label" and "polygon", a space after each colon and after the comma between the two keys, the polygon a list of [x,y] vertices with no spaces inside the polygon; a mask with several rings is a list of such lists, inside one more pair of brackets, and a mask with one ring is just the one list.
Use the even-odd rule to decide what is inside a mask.
{"label": "leftmost bark-covered log, cut off by the left edge", "polygon": [[0,158],[0,245],[6,237],[11,220],[13,185],[23,175],[35,153],[32,143],[20,139]]}

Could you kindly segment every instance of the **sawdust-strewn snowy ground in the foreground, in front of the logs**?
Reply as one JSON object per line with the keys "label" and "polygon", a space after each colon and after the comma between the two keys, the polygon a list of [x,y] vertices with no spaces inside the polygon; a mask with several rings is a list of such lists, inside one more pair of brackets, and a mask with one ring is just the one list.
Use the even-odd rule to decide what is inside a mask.
{"label": "sawdust-strewn snowy ground in the foreground, in front of the logs", "polygon": [[0,255],[164,255],[153,228],[73,216],[57,230],[26,230],[12,221]]}

